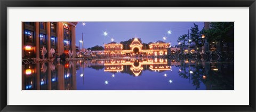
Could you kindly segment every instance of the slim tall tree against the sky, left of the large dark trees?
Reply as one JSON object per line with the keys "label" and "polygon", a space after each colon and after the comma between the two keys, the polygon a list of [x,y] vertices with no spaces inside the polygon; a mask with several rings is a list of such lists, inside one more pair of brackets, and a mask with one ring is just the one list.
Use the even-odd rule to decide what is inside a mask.
{"label": "slim tall tree against the sky, left of the large dark trees", "polygon": [[[196,48],[201,47],[203,41],[202,41],[201,31],[198,29],[198,25],[196,25],[194,23],[194,27],[191,27],[190,31],[191,31],[191,33],[190,33],[191,41],[196,44]],[[196,49],[196,51],[197,51],[197,49]]]}

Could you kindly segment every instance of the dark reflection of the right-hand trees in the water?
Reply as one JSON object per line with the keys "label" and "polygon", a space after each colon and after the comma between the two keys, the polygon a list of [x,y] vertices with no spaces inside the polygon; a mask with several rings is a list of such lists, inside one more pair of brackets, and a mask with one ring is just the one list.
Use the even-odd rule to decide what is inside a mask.
{"label": "dark reflection of the right-hand trees in the water", "polygon": [[189,79],[195,90],[201,83],[206,90],[234,90],[234,62],[188,61],[181,61],[178,73],[180,77]]}

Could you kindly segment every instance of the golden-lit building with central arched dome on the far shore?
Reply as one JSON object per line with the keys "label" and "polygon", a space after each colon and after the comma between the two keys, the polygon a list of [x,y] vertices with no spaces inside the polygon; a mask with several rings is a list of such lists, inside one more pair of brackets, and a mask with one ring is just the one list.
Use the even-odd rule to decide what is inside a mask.
{"label": "golden-lit building with central arched dome on the far shore", "polygon": [[149,50],[142,49],[142,44],[138,38],[134,38],[130,44],[130,50],[123,50],[123,45],[111,42],[104,44],[105,51],[104,54],[107,57],[123,57],[125,55],[154,55],[161,56],[167,55],[167,48],[170,46],[170,43],[165,43],[163,41],[157,41],[156,43],[149,43]]}

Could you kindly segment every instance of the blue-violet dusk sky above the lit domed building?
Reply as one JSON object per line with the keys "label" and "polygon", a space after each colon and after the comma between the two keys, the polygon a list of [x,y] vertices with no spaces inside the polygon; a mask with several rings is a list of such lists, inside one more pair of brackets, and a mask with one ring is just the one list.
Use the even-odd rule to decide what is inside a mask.
{"label": "blue-violet dusk sky above the lit domed building", "polygon": [[[178,45],[177,38],[180,35],[188,34],[188,29],[194,27],[193,23],[198,25],[199,30],[204,27],[204,22],[78,22],[76,26],[76,46],[79,46],[79,40],[82,40],[84,34],[84,48],[95,45],[103,46],[103,43],[110,43],[111,38],[115,42],[127,41],[137,36],[141,38],[142,43],[163,41],[171,42],[171,45]],[[168,35],[167,31],[171,30],[172,34]],[[108,36],[103,35],[107,31]],[[82,43],[81,43],[82,48]]]}

